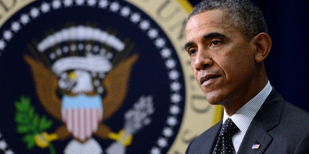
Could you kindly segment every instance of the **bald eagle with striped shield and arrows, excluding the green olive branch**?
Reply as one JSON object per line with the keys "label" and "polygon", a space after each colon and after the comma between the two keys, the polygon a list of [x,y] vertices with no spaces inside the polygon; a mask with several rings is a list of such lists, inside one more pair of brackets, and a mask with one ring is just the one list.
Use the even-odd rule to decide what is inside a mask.
{"label": "bald eagle with striped shield and arrows, excluding the green olive branch", "polygon": [[[126,53],[125,43],[116,36],[91,26],[72,26],[46,36],[35,50],[24,60],[31,68],[38,100],[63,123],[54,132],[37,134],[38,147],[71,138],[65,154],[102,154],[95,135],[115,140],[107,153],[124,154],[134,133],[151,123],[152,96],[141,96],[125,112],[122,130],[115,133],[104,124],[124,103],[138,60],[138,54]],[[125,58],[113,60],[119,55]]]}

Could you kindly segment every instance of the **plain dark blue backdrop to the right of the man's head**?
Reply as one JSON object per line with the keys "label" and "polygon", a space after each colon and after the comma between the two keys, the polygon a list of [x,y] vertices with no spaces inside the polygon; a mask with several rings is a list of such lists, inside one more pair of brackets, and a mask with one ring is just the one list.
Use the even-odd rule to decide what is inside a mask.
{"label": "plain dark blue backdrop to the right of the man's head", "polygon": [[[200,0],[189,0],[195,6]],[[252,0],[264,13],[273,46],[266,60],[271,84],[307,111],[309,0]]]}

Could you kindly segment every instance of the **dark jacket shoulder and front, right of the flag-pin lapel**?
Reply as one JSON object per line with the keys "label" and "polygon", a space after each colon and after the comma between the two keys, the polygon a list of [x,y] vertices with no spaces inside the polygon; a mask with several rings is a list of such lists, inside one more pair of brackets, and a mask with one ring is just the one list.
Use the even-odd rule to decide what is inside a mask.
{"label": "dark jacket shoulder and front, right of the flag-pin lapel", "polygon": [[[308,151],[309,113],[291,103],[284,102],[276,127],[268,130],[272,137],[268,152],[303,153]],[[307,150],[306,150],[307,149]]]}

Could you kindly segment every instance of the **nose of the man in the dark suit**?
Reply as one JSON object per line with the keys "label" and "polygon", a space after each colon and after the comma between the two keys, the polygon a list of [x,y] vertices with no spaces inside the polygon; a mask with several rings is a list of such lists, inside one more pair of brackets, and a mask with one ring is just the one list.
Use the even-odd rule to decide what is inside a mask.
{"label": "nose of the man in the dark suit", "polygon": [[199,50],[194,60],[195,69],[205,70],[206,68],[213,65],[213,59],[211,57],[210,51]]}

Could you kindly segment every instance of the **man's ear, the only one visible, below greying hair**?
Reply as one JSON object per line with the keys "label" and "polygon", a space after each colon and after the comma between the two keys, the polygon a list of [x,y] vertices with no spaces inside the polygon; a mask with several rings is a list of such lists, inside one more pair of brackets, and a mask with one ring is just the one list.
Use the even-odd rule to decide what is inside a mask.
{"label": "man's ear, the only one visible, below greying hair", "polygon": [[272,47],[272,40],[266,33],[259,33],[253,38],[255,40],[256,51],[254,58],[256,62],[263,62],[268,56]]}

